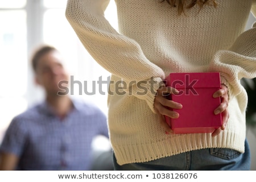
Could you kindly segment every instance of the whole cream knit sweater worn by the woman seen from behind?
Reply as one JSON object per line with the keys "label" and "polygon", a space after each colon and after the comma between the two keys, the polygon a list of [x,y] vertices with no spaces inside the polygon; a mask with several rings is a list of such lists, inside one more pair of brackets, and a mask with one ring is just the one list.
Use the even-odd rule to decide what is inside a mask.
{"label": "whole cream knit sweater worn by the woman seen from behind", "polygon": [[[118,164],[210,147],[244,152],[247,96],[240,79],[256,77],[256,28],[243,30],[256,1],[217,0],[217,7],[195,6],[182,15],[159,0],[115,2],[119,32],[104,18],[109,0],[69,0],[66,16],[88,52],[113,74],[108,126]],[[171,72],[209,71],[220,72],[229,89],[226,129],[214,138],[166,135],[154,111],[158,83]]]}

